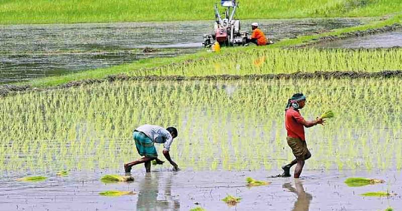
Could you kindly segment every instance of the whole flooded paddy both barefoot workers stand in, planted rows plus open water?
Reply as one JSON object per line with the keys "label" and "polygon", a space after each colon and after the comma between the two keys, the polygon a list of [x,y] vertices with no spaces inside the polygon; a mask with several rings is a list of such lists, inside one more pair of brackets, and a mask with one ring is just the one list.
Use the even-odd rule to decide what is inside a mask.
{"label": "whole flooded paddy both barefoot workers stand in, planted rows plus open water", "polygon": [[[115,82],[4,97],[0,106],[0,201],[7,210],[384,210],[402,208],[401,108],[398,78]],[[301,113],[335,118],[307,129],[313,157],[302,179],[269,178],[293,156],[284,106],[307,95]],[[228,109],[230,108],[230,109]],[[182,169],[142,165],[131,183],[103,184],[139,158],[132,131],[175,126],[171,156]],[[161,155],[162,146],[157,146]],[[162,158],[164,159],[164,158]],[[60,170],[69,170],[58,177]],[[293,170],[293,169],[292,169]],[[22,182],[25,176],[47,176]],[[246,187],[246,177],[272,184]],[[348,177],[385,180],[348,187]],[[106,190],[134,195],[105,197]],[[368,191],[397,193],[363,197]],[[236,206],[221,199],[241,197]],[[198,205],[195,203],[199,203]]]}

